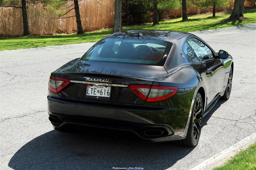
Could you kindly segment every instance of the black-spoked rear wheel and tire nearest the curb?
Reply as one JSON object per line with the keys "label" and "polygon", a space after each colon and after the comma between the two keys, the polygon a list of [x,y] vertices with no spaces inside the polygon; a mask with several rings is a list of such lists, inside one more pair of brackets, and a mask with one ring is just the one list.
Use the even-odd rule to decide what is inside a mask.
{"label": "black-spoked rear wheel and tire nearest the curb", "polygon": [[176,144],[189,147],[193,147],[198,144],[202,129],[203,113],[204,108],[202,96],[200,93],[197,93],[193,104],[193,110],[191,112],[187,136],[185,139],[176,141]]}

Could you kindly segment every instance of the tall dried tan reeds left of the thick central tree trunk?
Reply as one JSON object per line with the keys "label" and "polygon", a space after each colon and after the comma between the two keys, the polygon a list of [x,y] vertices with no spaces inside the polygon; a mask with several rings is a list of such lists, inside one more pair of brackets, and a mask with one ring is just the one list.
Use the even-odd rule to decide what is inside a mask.
{"label": "tall dried tan reeds left of the thick central tree trunk", "polygon": [[[79,8],[84,31],[113,26],[113,0],[82,0],[79,1]],[[75,15],[75,10],[68,14],[68,16],[73,15]],[[0,7],[0,16],[0,36],[21,36],[23,34],[21,9]],[[77,31],[75,17],[56,18],[58,18],[56,11],[47,10],[44,4],[28,4],[31,35],[52,35]]]}

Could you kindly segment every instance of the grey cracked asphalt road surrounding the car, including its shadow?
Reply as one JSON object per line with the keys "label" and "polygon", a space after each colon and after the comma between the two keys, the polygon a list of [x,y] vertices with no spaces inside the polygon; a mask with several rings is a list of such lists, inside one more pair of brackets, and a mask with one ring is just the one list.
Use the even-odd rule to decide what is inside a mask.
{"label": "grey cracked asphalt road surrounding the car, including its shadow", "polygon": [[[195,148],[140,143],[128,134],[54,131],[46,109],[49,75],[93,43],[0,52],[0,169],[190,169],[256,129],[256,24],[193,32],[234,58],[230,99],[204,118]],[[0,42],[1,44],[1,42]]]}

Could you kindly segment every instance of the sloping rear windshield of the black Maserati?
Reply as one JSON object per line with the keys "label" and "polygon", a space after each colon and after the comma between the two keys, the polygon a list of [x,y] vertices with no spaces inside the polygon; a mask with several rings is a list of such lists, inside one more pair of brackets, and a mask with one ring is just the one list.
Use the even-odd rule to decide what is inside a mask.
{"label": "sloping rear windshield of the black Maserati", "polygon": [[81,60],[164,66],[171,46],[160,40],[106,38],[92,46]]}

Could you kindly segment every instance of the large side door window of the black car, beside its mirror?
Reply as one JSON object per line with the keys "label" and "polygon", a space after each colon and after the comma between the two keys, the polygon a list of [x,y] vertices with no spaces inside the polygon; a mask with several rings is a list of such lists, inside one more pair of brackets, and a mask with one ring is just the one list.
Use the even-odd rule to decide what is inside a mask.
{"label": "large side door window of the black car, beside its mirror", "polygon": [[198,39],[194,39],[194,38],[189,39],[188,44],[195,51],[200,61],[211,59],[213,57],[212,51]]}

